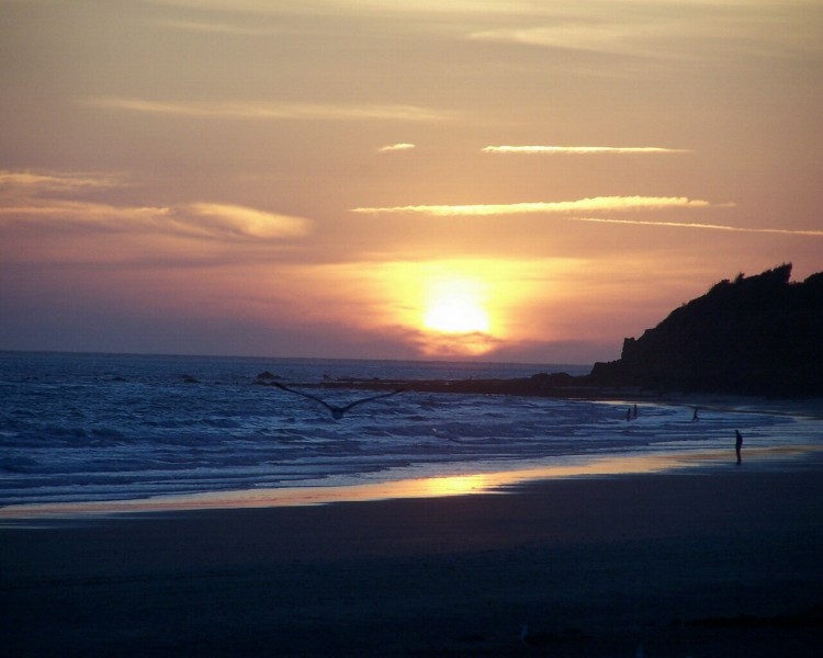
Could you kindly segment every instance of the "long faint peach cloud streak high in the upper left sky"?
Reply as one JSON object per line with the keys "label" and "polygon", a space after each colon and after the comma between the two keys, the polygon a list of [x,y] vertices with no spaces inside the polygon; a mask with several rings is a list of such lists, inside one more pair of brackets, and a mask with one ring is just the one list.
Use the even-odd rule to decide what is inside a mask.
{"label": "long faint peach cloud streak high in the upper left sky", "polygon": [[165,114],[195,118],[280,121],[447,121],[450,115],[416,105],[281,103],[278,101],[153,101],[128,98],[92,98],[77,101],[90,107]]}

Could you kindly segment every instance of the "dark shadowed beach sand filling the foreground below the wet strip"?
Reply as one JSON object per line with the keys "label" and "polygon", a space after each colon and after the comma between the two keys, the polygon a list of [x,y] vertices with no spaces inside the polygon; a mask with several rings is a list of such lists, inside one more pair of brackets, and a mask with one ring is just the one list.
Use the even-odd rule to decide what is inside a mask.
{"label": "dark shadowed beach sand filling the foreground below the wet strip", "polygon": [[[819,656],[823,472],[0,530],[8,656]],[[744,615],[744,616],[742,616]],[[545,646],[519,639],[528,624]]]}

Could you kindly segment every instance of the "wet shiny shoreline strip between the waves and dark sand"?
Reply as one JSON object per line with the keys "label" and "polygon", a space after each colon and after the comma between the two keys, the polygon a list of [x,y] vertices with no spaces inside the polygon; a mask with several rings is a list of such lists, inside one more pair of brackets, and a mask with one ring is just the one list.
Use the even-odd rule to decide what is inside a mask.
{"label": "wet shiny shoreline strip between the waves and dark sand", "polygon": [[[38,521],[79,522],[169,512],[506,495],[516,492],[521,487],[553,480],[652,474],[717,476],[741,467],[734,463],[731,447],[573,458],[551,457],[544,462],[542,465],[532,464],[528,467],[493,468],[429,477],[376,478],[373,481],[362,481],[372,478],[351,478],[353,481],[348,481],[347,478],[334,485],[316,480],[292,487],[216,490],[134,499],[9,504],[0,507],[0,530],[23,527]],[[755,472],[823,470],[823,446],[748,447],[745,451],[745,467]]]}

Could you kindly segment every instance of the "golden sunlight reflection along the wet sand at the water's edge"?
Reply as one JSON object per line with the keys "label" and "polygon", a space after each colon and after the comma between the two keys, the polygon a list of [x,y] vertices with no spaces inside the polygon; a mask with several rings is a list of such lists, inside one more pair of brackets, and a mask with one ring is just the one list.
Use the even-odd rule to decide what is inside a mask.
{"label": "golden sunlight reflection along the wet sand at the water's edge", "polygon": [[[501,495],[529,481],[568,477],[617,476],[662,473],[695,467],[733,465],[730,450],[691,451],[679,454],[624,455],[591,457],[564,464],[539,465],[531,468],[474,473],[421,478],[407,478],[338,486],[301,486],[240,491],[212,491],[158,496],[138,500],[106,500],[19,504],[0,508],[0,521],[26,519],[79,519],[143,512],[176,512],[215,509],[301,507],[339,502],[364,502],[397,498],[443,498],[477,494]],[[754,447],[744,462],[765,464],[821,452],[816,446]],[[733,455],[733,452],[732,452]]]}

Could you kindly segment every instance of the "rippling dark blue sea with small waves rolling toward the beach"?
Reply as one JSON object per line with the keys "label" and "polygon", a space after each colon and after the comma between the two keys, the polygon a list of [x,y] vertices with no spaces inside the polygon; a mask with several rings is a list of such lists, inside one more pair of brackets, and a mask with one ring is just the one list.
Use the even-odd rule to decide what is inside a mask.
{"label": "rippling dark blue sea with small waves rolling toward the beach", "polygon": [[[818,445],[821,422],[757,408],[404,392],[335,420],[264,371],[346,405],[335,379],[583,374],[588,366],[0,352],[0,506],[391,481],[620,455]],[[713,451],[713,452],[712,452]]]}

